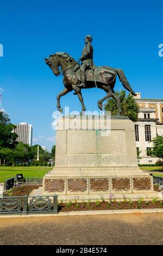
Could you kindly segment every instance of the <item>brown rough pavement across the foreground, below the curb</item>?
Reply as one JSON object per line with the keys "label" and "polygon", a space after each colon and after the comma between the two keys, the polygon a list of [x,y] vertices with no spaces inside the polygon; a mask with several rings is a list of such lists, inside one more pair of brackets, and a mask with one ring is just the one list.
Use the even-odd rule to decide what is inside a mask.
{"label": "brown rough pavement across the foreground, below the curb", "polygon": [[163,245],[163,213],[0,218],[0,245]]}

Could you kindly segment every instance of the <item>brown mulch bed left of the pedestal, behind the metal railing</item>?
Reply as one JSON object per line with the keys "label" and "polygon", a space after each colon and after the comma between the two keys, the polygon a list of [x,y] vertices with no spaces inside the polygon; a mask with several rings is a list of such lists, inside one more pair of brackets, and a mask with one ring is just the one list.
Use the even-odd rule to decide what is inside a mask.
{"label": "brown mulch bed left of the pedestal, behind the metal railing", "polygon": [[20,197],[20,196],[29,196],[29,194],[33,190],[37,190],[37,188],[41,187],[40,185],[34,185],[34,186],[20,186],[20,187],[13,187],[11,193],[8,194],[7,192],[3,193],[4,197]]}

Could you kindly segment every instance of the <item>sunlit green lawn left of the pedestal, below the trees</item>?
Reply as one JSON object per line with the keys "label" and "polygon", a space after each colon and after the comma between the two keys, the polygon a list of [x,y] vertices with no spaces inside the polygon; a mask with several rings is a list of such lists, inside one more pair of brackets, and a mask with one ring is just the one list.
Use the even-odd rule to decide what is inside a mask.
{"label": "sunlit green lawn left of the pedestal, below the trees", "polygon": [[46,173],[52,170],[53,167],[45,166],[0,166],[0,182],[15,177],[16,174],[22,173],[24,177],[43,177]]}

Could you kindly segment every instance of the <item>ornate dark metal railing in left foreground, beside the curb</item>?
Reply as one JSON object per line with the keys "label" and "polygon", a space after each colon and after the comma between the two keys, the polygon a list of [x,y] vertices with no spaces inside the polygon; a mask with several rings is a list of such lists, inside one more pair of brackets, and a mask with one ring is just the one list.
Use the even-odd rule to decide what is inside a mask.
{"label": "ornate dark metal railing in left foreground, beside the curb", "polygon": [[1,214],[58,213],[58,196],[0,197]]}

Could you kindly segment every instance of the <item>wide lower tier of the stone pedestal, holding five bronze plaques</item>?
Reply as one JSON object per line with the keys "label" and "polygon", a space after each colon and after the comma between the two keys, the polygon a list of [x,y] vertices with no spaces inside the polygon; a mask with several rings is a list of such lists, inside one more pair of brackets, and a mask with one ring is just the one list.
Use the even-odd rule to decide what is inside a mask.
{"label": "wide lower tier of the stone pedestal, holding five bronze plaques", "polygon": [[153,198],[153,177],[139,167],[57,168],[43,177],[43,195],[57,193],[59,200],[97,197]]}

